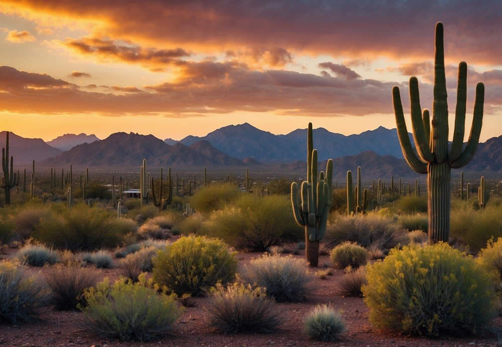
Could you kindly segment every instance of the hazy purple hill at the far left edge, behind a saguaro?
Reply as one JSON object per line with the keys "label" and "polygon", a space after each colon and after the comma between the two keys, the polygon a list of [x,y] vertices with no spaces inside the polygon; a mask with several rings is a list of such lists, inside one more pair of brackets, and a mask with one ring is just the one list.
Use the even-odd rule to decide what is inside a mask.
{"label": "hazy purple hill at the far left edge, behind a saguaro", "polygon": [[[0,148],[5,147],[7,131],[0,131]],[[9,155],[14,156],[14,165],[39,161],[61,153],[61,149],[51,147],[41,138],[25,138],[9,133]]]}

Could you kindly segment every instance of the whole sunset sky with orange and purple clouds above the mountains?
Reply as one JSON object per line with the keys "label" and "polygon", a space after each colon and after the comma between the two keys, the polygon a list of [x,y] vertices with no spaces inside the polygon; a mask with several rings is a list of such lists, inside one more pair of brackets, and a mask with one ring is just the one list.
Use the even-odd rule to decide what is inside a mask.
{"label": "whole sunset sky with orange and purple clouds above the mountains", "polygon": [[[445,27],[454,124],[467,62],[467,138],[502,134],[502,2],[0,0],[0,130],[51,140],[117,131],[181,139],[248,122],[272,133],[394,128],[391,89],[432,107],[434,26]],[[410,127],[409,127],[410,130]]]}

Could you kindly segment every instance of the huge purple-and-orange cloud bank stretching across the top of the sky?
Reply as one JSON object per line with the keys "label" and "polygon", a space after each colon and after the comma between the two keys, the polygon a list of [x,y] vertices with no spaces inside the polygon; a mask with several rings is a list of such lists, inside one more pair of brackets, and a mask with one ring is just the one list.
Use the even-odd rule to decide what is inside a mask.
{"label": "huge purple-and-orange cloud bank stretching across the top of the sky", "polygon": [[434,24],[440,19],[445,23],[448,59],[497,64],[502,53],[502,3],[498,0],[482,6],[469,0],[391,0],[385,5],[321,0],[130,0],[127,6],[117,6],[113,0],[4,0],[0,11],[35,22],[60,18],[71,26],[73,21],[75,27],[92,26],[94,37],[134,40],[151,47],[180,47],[205,54],[281,47],[294,54],[351,60],[429,58],[434,50]]}

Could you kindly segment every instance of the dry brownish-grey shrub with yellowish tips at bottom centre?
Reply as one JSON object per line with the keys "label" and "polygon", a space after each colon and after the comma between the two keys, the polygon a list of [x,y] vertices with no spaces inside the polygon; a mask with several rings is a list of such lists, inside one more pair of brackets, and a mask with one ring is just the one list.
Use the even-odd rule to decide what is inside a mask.
{"label": "dry brownish-grey shrub with yellowish tips at bottom centre", "polygon": [[275,305],[264,288],[236,282],[211,288],[204,308],[219,332],[272,332],[282,322]]}

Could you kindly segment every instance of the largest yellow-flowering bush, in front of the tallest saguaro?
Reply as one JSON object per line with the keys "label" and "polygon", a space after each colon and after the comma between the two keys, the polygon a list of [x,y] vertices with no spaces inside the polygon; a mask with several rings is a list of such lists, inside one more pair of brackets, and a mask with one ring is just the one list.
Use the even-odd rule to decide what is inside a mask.
{"label": "largest yellow-flowering bush, in front of the tallest saguaro", "polygon": [[366,267],[362,287],[377,327],[411,334],[480,332],[494,316],[492,277],[446,243],[393,249]]}

